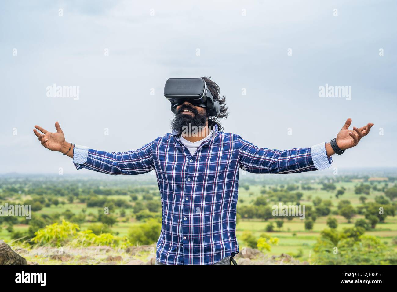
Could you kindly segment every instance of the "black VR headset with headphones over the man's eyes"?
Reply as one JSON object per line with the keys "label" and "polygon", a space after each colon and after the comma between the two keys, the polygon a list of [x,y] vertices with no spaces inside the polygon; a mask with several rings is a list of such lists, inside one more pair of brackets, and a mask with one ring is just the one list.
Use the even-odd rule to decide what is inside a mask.
{"label": "black VR headset with headphones over the man's eyes", "polygon": [[221,111],[219,101],[214,100],[201,78],[170,78],[164,86],[164,96],[171,102],[174,114],[177,113],[176,107],[185,101],[206,108],[209,116],[217,116]]}

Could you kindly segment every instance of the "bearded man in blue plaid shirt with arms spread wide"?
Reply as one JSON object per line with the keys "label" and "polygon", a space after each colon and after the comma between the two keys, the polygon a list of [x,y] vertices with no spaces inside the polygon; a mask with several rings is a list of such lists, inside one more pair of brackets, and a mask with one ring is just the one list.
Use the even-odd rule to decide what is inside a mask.
{"label": "bearded man in blue plaid shirt with arms spread wide", "polygon": [[40,126],[35,128],[42,133],[33,130],[44,147],[73,158],[77,169],[114,175],[156,171],[162,200],[156,253],[160,265],[230,265],[239,252],[235,234],[239,168],[264,174],[322,170],[330,167],[335,152],[340,155],[356,146],[374,125],[349,130],[348,118],[331,142],[285,151],[259,148],[222,131],[218,119],[227,117],[225,98],[220,97],[214,81],[201,79],[212,95],[207,105],[214,108],[218,103],[217,110],[210,112],[205,104],[197,105],[191,99],[175,103],[172,134],[135,151],[109,153],[73,145],[65,141],[58,122],[54,133]]}

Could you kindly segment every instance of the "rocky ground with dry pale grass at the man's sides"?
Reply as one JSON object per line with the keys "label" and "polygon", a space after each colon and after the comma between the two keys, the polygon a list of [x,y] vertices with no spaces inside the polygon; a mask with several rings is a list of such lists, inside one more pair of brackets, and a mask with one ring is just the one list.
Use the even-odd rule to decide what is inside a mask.
{"label": "rocky ground with dry pale grass at the man's sides", "polygon": [[[133,246],[116,250],[108,246],[85,248],[22,248],[0,241],[0,265],[154,265],[155,246]],[[258,249],[243,248],[234,259],[239,265],[307,265],[290,255],[264,255]]]}

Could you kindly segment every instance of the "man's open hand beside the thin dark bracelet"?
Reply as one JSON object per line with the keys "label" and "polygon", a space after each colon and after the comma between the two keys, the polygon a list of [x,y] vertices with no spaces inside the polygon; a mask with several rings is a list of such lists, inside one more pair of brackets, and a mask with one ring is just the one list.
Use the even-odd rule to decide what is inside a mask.
{"label": "man's open hand beside the thin dark bracelet", "polygon": [[[56,128],[55,133],[49,132],[37,125],[35,126],[35,128],[42,132],[40,133],[36,129],[33,129],[35,135],[39,137],[39,141],[41,142],[41,145],[43,145],[47,149],[66,153],[71,147],[71,144],[65,141],[64,132],[62,131],[58,122],[55,122],[55,128]],[[71,153],[73,153],[73,151]],[[68,154],[67,156],[73,157],[73,155],[70,156],[70,151],[67,154]]]}

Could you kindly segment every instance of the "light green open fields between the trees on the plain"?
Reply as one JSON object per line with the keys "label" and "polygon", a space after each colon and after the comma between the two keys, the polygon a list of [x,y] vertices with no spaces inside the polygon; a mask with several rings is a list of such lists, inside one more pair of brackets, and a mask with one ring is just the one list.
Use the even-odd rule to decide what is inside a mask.
{"label": "light green open fields between the trees on the plain", "polygon": [[[298,186],[302,185],[301,182],[297,180],[294,180],[292,182],[272,181],[271,183],[268,183],[265,180],[263,183],[261,182],[251,183],[251,182],[245,182],[244,180],[241,181],[242,182],[240,182],[240,186],[245,184],[248,185],[248,187],[245,186],[239,188],[237,211],[239,210],[239,206],[252,205],[256,198],[263,196],[264,193],[270,192],[272,188],[275,187],[278,188],[279,186],[285,186],[287,184],[296,184]],[[316,197],[320,197],[323,200],[331,200],[332,203],[330,207],[331,212],[335,212],[335,210],[337,211],[337,204],[341,200],[349,200],[351,202],[351,205],[353,205],[354,207],[362,205],[361,201],[359,200],[359,197],[362,196],[362,194],[358,195],[355,193],[355,186],[361,183],[360,180],[334,182],[336,186],[336,190],[342,187],[345,188],[345,193],[341,195],[339,198],[335,197],[336,190],[333,191],[322,190],[321,188],[323,182],[324,180],[317,179],[316,181],[313,181],[306,179],[304,184],[306,185],[310,184],[310,186],[313,189],[301,190],[301,188],[299,188],[298,191],[303,193],[303,196],[300,200],[300,204],[306,206],[312,206],[313,199]],[[386,183],[387,182],[376,182],[378,189],[382,189],[382,187],[385,187]],[[95,183],[93,183],[93,185],[95,185]],[[115,186],[114,188],[117,189],[118,187]],[[154,195],[154,200],[160,200],[160,197],[156,196],[156,184],[154,183],[149,184],[147,188],[148,190],[150,190],[148,192]],[[384,195],[384,191],[371,190],[369,195],[365,195],[366,202],[374,201],[375,197],[380,195]],[[31,194],[22,193],[21,195],[15,195],[15,197],[9,199],[13,199],[15,201],[24,201],[26,199],[32,199],[33,197],[34,196]],[[135,205],[136,204],[135,201],[145,201],[142,193],[137,193],[137,199],[135,201],[131,199],[130,195],[112,194],[107,196],[99,195],[98,197],[106,197],[106,199],[110,199],[110,200],[121,199],[131,205]],[[95,215],[98,213],[98,207],[87,207],[86,203],[79,202],[78,200],[74,200],[73,203],[69,203],[66,197],[58,196],[57,199],[59,199],[60,201],[58,205],[50,205],[50,207],[42,207],[40,211],[36,211],[35,213],[37,215],[51,215],[54,213],[62,214],[66,210],[69,210],[73,214],[77,215],[82,213],[84,209],[85,214],[87,215],[86,217],[87,219],[86,222],[79,224],[81,226],[81,230],[86,230],[89,227],[89,225],[93,223],[90,222],[90,218],[91,217],[94,218]],[[274,204],[277,204],[277,202],[269,203],[270,206]],[[283,202],[283,204],[288,205],[289,203]],[[294,204],[295,203],[293,203],[293,205]],[[131,226],[136,226],[142,224],[143,222],[135,219],[133,209],[131,208],[124,209],[127,216],[127,220],[125,220],[125,217],[120,217],[121,209],[122,208],[116,207],[112,210],[112,214],[116,215],[118,221],[111,227],[111,230],[116,235],[127,236]],[[338,223],[337,230],[343,230],[343,228],[346,227],[349,228],[354,227],[354,223],[356,220],[364,219],[363,215],[356,215],[351,219],[351,223],[348,223],[347,219],[345,219],[340,215],[331,214],[330,216],[337,219],[337,223]],[[262,233],[266,233],[266,234],[270,234],[272,237],[277,237],[279,239],[278,245],[272,246],[271,250],[268,252],[269,255],[280,255],[281,253],[296,255],[299,253],[299,250],[301,249],[303,251],[303,255],[299,257],[299,260],[315,263],[316,255],[313,251],[313,248],[317,242],[317,239],[320,236],[320,232],[325,228],[328,228],[326,224],[326,220],[328,219],[328,216],[318,217],[314,222],[314,226],[312,230],[310,231],[305,230],[304,220],[300,220],[299,218],[294,218],[293,220],[290,221],[284,219],[283,227],[277,228],[275,221],[280,219],[283,218],[275,217],[274,219],[269,219],[267,221],[260,219],[244,219],[244,218],[240,219],[236,228],[237,240],[239,242],[240,250],[247,245],[247,243],[242,240],[243,232],[251,231],[256,238],[259,238]],[[275,228],[273,232],[266,231],[266,226],[270,222],[274,222]],[[12,234],[8,232],[6,228],[7,225],[3,223],[2,229],[0,230],[0,239],[10,242],[12,240],[11,238]],[[26,231],[28,228],[29,225],[27,224],[13,225],[14,231],[23,232]],[[387,244],[387,246],[390,246],[395,251],[397,251],[397,244],[395,240],[397,238],[397,217],[388,216],[385,222],[378,223],[376,225],[376,228],[367,231],[366,234],[380,238],[383,243]]]}

